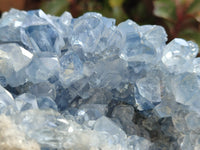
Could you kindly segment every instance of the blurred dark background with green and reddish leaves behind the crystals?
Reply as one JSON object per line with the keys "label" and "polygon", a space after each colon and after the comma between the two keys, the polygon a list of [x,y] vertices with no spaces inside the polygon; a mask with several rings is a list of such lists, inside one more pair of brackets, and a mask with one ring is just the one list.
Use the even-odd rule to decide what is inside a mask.
{"label": "blurred dark background with green and reddish leaves behind the crystals", "polygon": [[69,11],[73,17],[100,12],[117,23],[129,18],[140,25],[162,25],[169,41],[181,37],[200,46],[200,0],[0,0],[0,14],[10,8],[42,9],[56,16]]}

